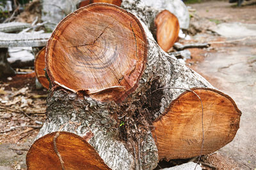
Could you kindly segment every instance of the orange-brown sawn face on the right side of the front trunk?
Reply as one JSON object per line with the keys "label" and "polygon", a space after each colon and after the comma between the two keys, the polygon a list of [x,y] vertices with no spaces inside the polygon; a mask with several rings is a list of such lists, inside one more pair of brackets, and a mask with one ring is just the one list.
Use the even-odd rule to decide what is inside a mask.
{"label": "orange-brown sawn face on the right side of the front trunk", "polygon": [[[204,149],[212,153],[232,141],[239,129],[241,111],[225,94],[212,89],[194,90],[204,106]],[[168,112],[153,123],[159,160],[200,155],[202,106],[193,92],[184,92],[170,104]]]}

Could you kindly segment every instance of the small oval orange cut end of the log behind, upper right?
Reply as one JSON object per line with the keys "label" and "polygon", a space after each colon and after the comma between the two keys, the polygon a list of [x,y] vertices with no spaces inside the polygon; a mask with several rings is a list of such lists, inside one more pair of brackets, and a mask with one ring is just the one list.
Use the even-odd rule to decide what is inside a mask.
{"label": "small oval orange cut end of the log behind, upper right", "polygon": [[154,20],[157,43],[168,52],[179,36],[179,20],[168,10],[161,11]]}

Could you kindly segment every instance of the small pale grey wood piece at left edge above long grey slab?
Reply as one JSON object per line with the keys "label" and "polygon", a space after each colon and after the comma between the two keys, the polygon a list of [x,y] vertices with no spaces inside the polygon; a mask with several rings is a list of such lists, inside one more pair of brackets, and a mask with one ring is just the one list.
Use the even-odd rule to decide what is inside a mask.
{"label": "small pale grey wood piece at left edge above long grey slab", "polygon": [[0,24],[0,32],[15,32],[21,31],[22,29],[26,29],[31,25],[23,22],[8,22],[4,24]]}

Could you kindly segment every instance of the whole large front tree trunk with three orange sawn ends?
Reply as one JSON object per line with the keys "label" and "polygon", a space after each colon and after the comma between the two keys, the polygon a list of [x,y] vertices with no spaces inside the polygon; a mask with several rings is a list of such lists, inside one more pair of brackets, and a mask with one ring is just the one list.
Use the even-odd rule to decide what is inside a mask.
{"label": "whole large front tree trunk with three orange sawn ends", "polygon": [[[154,169],[159,159],[179,157],[177,145],[184,158],[213,152],[234,138],[241,115],[234,101],[157,45],[149,30],[154,18],[141,5],[122,2],[132,15],[111,4],[91,4],[56,27],[45,55],[52,85],[48,119],[29,149],[28,169],[58,161],[72,169],[67,150],[84,166],[99,159],[86,162],[83,154],[97,152],[111,169]],[[199,98],[186,90],[193,88],[204,115]],[[57,143],[63,131],[69,132],[66,141]],[[72,136],[81,139],[79,145]],[[82,154],[82,146],[95,151]],[[50,152],[52,162],[34,159]]]}

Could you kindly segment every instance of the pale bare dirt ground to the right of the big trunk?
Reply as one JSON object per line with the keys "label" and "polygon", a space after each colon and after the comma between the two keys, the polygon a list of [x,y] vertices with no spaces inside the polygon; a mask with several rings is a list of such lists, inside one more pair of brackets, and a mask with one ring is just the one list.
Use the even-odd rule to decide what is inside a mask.
{"label": "pale bare dirt ground to the right of the big trunk", "polygon": [[[227,1],[208,1],[190,6],[196,9],[195,13],[198,16],[208,18],[211,22],[218,21],[218,24],[222,22],[227,24],[240,22],[246,26],[256,24],[256,1],[245,2],[241,8],[230,6]],[[253,30],[256,32],[255,25]],[[241,36],[237,37],[237,34]],[[209,34],[197,34],[194,39],[219,42],[212,43],[211,50],[190,49],[193,57],[190,61],[191,67],[214,87],[232,97],[242,111],[236,137],[217,152],[222,157],[220,161],[227,160],[227,164],[232,166],[236,164],[236,166],[219,168],[255,169],[256,36],[243,36],[243,32],[235,32],[233,36],[228,34],[226,37],[225,34],[211,37]],[[213,164],[216,162],[213,161]]]}

